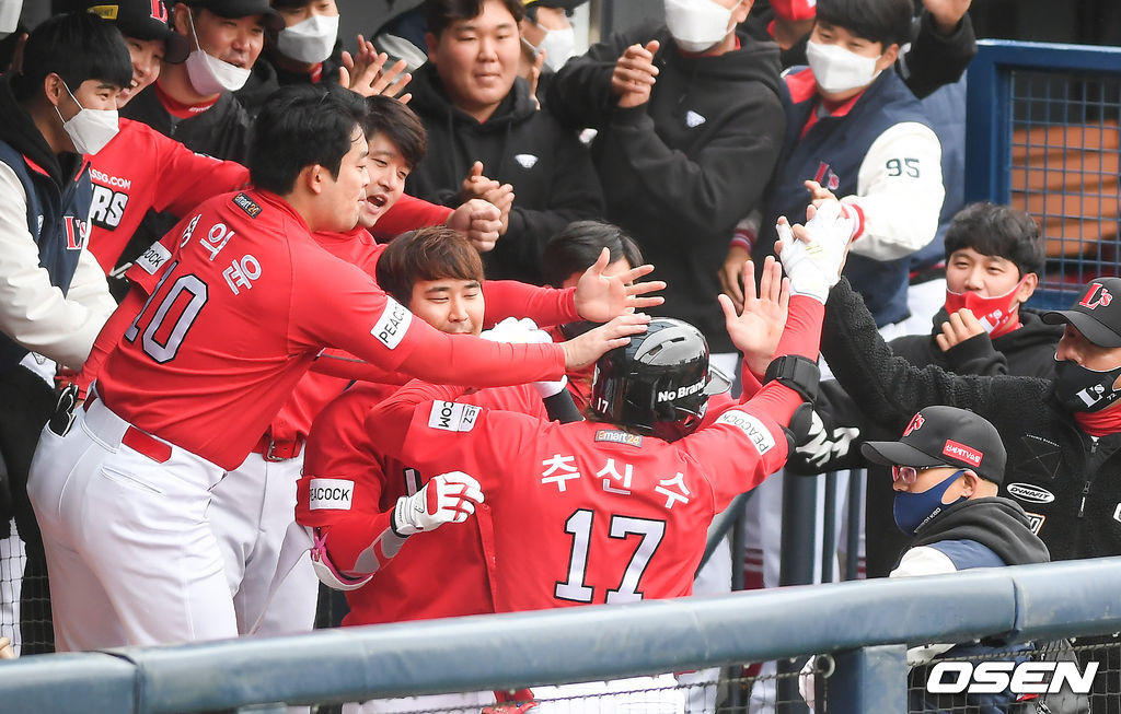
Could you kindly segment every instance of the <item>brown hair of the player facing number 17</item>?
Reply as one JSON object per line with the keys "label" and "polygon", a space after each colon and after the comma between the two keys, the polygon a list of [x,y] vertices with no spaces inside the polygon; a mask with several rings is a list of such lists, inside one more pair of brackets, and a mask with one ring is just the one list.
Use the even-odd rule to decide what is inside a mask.
{"label": "brown hair of the player facing number 17", "polygon": [[393,238],[378,259],[378,284],[404,306],[420,280],[478,280],[483,282],[479,251],[446,226],[428,226]]}

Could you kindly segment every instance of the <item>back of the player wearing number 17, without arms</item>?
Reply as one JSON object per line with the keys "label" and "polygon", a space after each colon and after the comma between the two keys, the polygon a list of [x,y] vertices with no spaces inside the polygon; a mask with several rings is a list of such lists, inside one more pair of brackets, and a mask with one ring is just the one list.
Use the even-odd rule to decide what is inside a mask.
{"label": "back of the player wearing number 17, without arms", "polygon": [[610,424],[550,424],[476,475],[497,534],[501,611],[692,592],[715,495],[686,451]]}

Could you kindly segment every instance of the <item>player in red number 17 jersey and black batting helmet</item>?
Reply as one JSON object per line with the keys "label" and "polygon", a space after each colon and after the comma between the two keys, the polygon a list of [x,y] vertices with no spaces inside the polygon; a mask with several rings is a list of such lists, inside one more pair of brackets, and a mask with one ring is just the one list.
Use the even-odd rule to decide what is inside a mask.
{"label": "player in red number 17 jersey and black batting helmet", "polygon": [[[461,388],[419,381],[381,402],[365,420],[369,448],[439,475],[427,486],[437,489],[398,500],[387,527],[367,533],[358,561],[342,574],[382,565],[406,552],[402,538],[471,511],[478,517],[488,505],[498,611],[689,594],[704,552],[702,526],[781,467],[784,428],[816,391],[825,297],[851,227],[835,209],[822,213],[819,224],[839,226],[832,245],[788,237],[782,246],[794,294],[765,385],[701,429],[713,385],[707,346],[695,328],[670,319],[654,320],[596,363],[593,421],[545,423],[467,404]],[[726,297],[721,302],[738,345],[766,342],[765,320],[747,310],[738,318]],[[356,502],[358,483],[352,492]],[[337,491],[321,494],[309,513],[352,507]]]}

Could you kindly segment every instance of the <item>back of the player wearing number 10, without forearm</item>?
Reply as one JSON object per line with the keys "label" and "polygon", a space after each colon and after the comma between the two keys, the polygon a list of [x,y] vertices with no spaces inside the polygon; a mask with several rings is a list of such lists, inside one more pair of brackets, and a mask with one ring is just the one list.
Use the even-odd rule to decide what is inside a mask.
{"label": "back of the player wearing number 10, without forearm", "polygon": [[224,468],[241,462],[318,351],[314,313],[332,289],[345,302],[348,286],[373,284],[261,191],[205,201],[133,270],[158,283],[106,358],[99,393],[132,424]]}

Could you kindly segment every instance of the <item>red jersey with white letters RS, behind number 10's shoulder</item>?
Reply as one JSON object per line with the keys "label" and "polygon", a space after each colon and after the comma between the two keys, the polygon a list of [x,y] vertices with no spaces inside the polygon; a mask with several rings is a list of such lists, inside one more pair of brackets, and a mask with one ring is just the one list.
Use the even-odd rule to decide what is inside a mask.
{"label": "red jersey with white letters RS, behind number 10's shoulder", "polygon": [[90,252],[106,273],[149,208],[185,216],[207,198],[249,181],[249,169],[240,163],[195,153],[148,124],[121,119],[120,128],[90,157]]}

